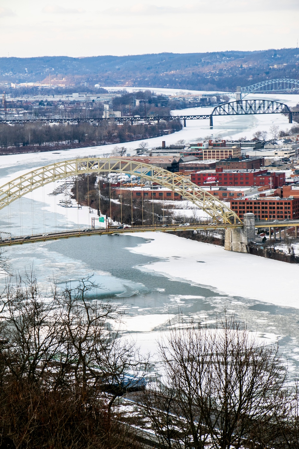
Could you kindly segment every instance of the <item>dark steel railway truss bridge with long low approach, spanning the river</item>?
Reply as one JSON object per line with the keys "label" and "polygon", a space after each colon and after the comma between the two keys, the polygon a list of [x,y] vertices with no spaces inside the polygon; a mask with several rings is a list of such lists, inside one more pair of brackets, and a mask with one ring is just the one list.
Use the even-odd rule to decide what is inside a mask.
{"label": "dark steel railway truss bridge with long low approach, spanning the river", "polygon": [[198,115],[151,115],[144,117],[110,117],[105,119],[103,117],[92,118],[2,118],[1,123],[6,124],[25,124],[25,123],[130,123],[134,122],[160,122],[160,121],[183,121],[186,126],[186,120],[210,120],[210,126],[213,126],[213,117],[222,115],[251,115],[251,114],[288,114],[289,122],[292,123],[292,116],[299,115],[299,111],[291,111],[289,106],[278,101],[271,100],[239,100],[230,101],[216,106],[210,114],[198,114]]}

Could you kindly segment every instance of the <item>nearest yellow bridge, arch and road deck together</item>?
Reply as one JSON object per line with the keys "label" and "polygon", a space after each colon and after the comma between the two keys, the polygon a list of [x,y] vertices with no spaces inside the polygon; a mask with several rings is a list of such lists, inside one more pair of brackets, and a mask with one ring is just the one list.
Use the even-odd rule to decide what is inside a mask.
{"label": "nearest yellow bridge, arch and road deck together", "polygon": [[[228,227],[236,228],[243,227],[242,221],[237,214],[232,211],[224,202],[215,198],[208,191],[201,189],[193,184],[190,180],[182,176],[178,176],[163,168],[154,167],[149,164],[129,161],[123,158],[77,158],[66,160],[62,162],[53,163],[45,167],[36,168],[18,178],[9,181],[0,187],[0,209],[8,206],[13,201],[21,198],[23,195],[32,192],[43,185],[47,185],[56,180],[68,178],[70,176],[78,176],[83,174],[108,174],[108,173],[126,173],[130,175],[139,176],[144,180],[150,180],[157,184],[167,187],[174,192],[182,195],[185,199],[191,201],[200,209],[205,211],[211,217],[211,223],[194,224],[186,227],[173,225],[171,227],[165,226],[133,226],[132,228],[120,229],[118,232],[140,232],[146,230],[183,230],[183,229],[226,229]],[[115,229],[99,229],[89,230],[87,233],[82,230],[50,233],[47,236],[37,234],[29,238],[13,238],[10,241],[1,240],[0,244],[19,244],[55,240],[57,238],[80,237],[82,235],[91,235],[91,233],[103,234],[113,233]]]}

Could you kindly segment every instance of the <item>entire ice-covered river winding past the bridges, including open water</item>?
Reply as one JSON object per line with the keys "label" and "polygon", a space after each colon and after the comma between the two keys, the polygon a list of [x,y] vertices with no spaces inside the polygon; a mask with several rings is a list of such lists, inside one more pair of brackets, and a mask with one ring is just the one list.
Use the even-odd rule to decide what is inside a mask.
{"label": "entire ice-covered river winding past the bridges, including open water", "polygon": [[[272,97],[272,96],[267,96]],[[273,96],[274,97],[274,96]],[[299,96],[276,96],[290,106]],[[200,108],[196,108],[199,112]],[[193,113],[195,110],[186,110]],[[204,108],[206,113],[207,108]],[[173,111],[173,114],[185,111]],[[246,135],[273,124],[288,128],[281,115],[218,117],[210,130],[208,121],[187,122],[181,132],[165,136],[166,145],[211,134],[224,138]],[[148,141],[160,145],[161,137]],[[130,142],[128,148],[137,148]],[[110,148],[109,148],[110,147]],[[0,182],[53,161],[78,155],[108,154],[111,146],[39,154],[0,156]],[[65,209],[58,197],[49,196],[55,186],[35,190],[0,211],[0,229],[12,235],[47,232],[49,229],[90,226],[87,207]],[[123,329],[146,352],[155,352],[155,341],[179,310],[186,317],[215,320],[224,306],[244,318],[252,330],[269,341],[278,338],[293,370],[299,363],[299,267],[249,255],[228,254],[220,247],[192,242],[166,234],[92,236],[8,249],[13,273],[33,266],[39,282],[49,288],[50,279],[61,285],[92,274],[100,288],[95,295],[111,298],[126,310]],[[71,273],[71,274],[70,274]],[[4,278],[0,279],[2,284]]]}

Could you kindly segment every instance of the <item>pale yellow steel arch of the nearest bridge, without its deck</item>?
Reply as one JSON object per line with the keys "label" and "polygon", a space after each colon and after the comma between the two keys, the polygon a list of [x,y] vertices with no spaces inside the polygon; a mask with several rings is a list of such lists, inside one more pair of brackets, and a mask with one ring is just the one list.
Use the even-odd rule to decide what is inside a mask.
{"label": "pale yellow steel arch of the nearest bridge, without its deck", "polygon": [[203,209],[217,223],[242,225],[237,214],[212,194],[163,168],[123,158],[77,158],[39,167],[0,187],[0,209],[43,185],[86,173],[126,173],[154,181]]}

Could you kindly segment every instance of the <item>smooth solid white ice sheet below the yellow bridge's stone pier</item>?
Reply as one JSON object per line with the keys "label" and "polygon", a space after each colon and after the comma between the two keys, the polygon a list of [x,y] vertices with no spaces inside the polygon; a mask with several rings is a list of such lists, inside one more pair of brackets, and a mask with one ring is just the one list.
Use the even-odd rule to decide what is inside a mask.
{"label": "smooth solid white ice sheet below the yellow bridge's stone pier", "polygon": [[[225,295],[299,308],[298,265],[225,251],[223,247],[175,235],[142,233],[145,235],[152,242],[130,251],[161,260],[139,269],[208,286]],[[276,276],[279,282],[275,282]]]}

